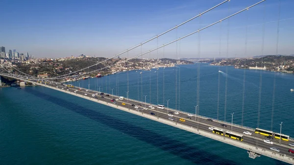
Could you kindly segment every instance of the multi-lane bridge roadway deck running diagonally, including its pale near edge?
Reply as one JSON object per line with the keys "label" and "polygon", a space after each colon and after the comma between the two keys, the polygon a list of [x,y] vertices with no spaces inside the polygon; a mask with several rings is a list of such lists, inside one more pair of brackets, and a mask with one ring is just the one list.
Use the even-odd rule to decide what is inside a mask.
{"label": "multi-lane bridge roadway deck running diagonally, including its pale near edge", "polygon": [[[15,76],[13,75],[9,75],[9,74],[3,74],[2,75],[5,75],[5,76],[9,76],[9,77],[12,77],[12,78],[16,78]],[[147,103],[145,105],[145,102],[141,102],[141,101],[136,101],[136,100],[133,100],[133,99],[128,99],[128,100],[116,100],[117,104],[114,104],[112,103],[110,100],[111,99],[117,99],[119,98],[119,96],[117,95],[111,95],[109,94],[109,96],[106,96],[106,94],[104,94],[104,98],[101,98],[99,96],[97,96],[98,98],[96,99],[95,97],[92,96],[92,94],[99,94],[99,92],[97,91],[88,91],[86,92],[87,89],[84,89],[82,88],[81,91],[79,91],[79,88],[78,87],[64,87],[62,84],[60,83],[57,83],[56,82],[51,82],[51,83],[47,83],[47,84],[44,84],[44,82],[41,83],[37,83],[37,81],[35,80],[28,80],[26,79],[25,77],[20,77],[18,79],[22,79],[24,81],[28,81],[28,82],[33,82],[35,84],[39,84],[39,85],[42,85],[42,86],[47,86],[51,89],[55,89],[55,90],[58,90],[58,91],[61,91],[61,92],[65,92],[65,93],[69,93],[69,94],[73,94],[73,95],[79,95],[79,97],[83,97],[83,98],[86,98],[86,99],[90,99],[90,100],[97,100],[97,101],[103,101],[103,102],[106,102],[106,105],[108,104],[109,106],[112,106],[114,108],[117,108],[117,109],[121,109],[120,107],[124,107],[124,108],[127,108],[129,111],[134,111],[134,112],[131,112],[133,114],[136,114],[138,115],[138,113],[140,113],[140,116],[143,115],[143,117],[145,116],[153,116],[153,115],[150,115],[150,113],[154,113],[155,115],[153,117],[156,117],[157,119],[165,119],[165,120],[168,120],[170,122],[173,122],[174,125],[172,124],[169,124],[169,125],[172,125],[174,127],[178,127],[178,126],[175,126],[175,125],[185,125],[189,128],[192,128],[194,130],[197,130],[197,131],[201,131],[203,132],[202,136],[205,136],[205,134],[211,134],[213,135],[214,137],[209,137],[209,136],[206,136],[206,137],[209,137],[209,138],[212,138],[212,139],[215,139],[215,140],[218,140],[215,138],[215,136],[218,136],[218,137],[221,137],[221,139],[223,138],[223,140],[219,140],[219,141],[222,141],[222,142],[226,142],[228,144],[231,144],[231,145],[235,145],[235,146],[238,146],[238,147],[241,147],[241,148],[244,148],[244,149],[247,149],[247,150],[251,150],[255,153],[258,153],[258,154],[262,154],[262,155],[266,155],[268,157],[271,157],[271,158],[274,158],[274,159],[277,159],[277,160],[280,160],[280,161],[284,161],[286,163],[290,163],[290,164],[294,164],[294,154],[292,153],[289,153],[288,150],[290,148],[290,146],[288,145],[288,143],[290,142],[293,142],[292,140],[287,142],[287,141],[281,141],[281,144],[279,144],[279,140],[277,139],[273,139],[273,140],[270,140],[273,142],[273,144],[268,144],[268,143],[265,143],[263,140],[265,139],[264,136],[262,135],[259,135],[259,134],[255,134],[254,133],[254,129],[252,128],[248,128],[248,127],[242,127],[240,125],[237,125],[237,124],[233,124],[233,131],[232,132],[236,132],[236,133],[239,133],[239,134],[243,134],[243,132],[245,131],[249,131],[252,133],[252,135],[244,135],[244,140],[243,141],[237,141],[237,140],[233,140],[233,139],[230,139],[230,138],[226,138],[224,136],[221,136],[221,135],[216,135],[214,133],[212,133],[212,130],[208,129],[209,127],[217,127],[217,128],[221,128],[225,131],[230,131],[231,130],[231,125],[228,125],[228,123],[225,123],[227,124],[227,127],[221,127],[220,124],[224,123],[223,121],[220,121],[220,120],[216,120],[216,119],[213,119],[213,121],[209,121],[207,120],[208,118],[205,118],[205,117],[201,117],[201,116],[195,116],[193,114],[193,117],[191,117],[191,119],[187,118],[188,114],[187,112],[183,112],[183,111],[177,111],[177,110],[174,110],[174,109],[171,109],[169,108],[169,112],[172,112],[173,113],[173,117],[170,117],[168,116],[168,111],[167,109],[159,109],[157,108],[156,105],[153,105],[152,106],[155,108],[154,110],[150,109],[148,106],[150,105],[149,103]],[[57,88],[58,87],[58,88]],[[85,95],[87,94],[87,95]],[[88,98],[87,98],[88,97]],[[125,105],[122,105],[122,103],[125,103]],[[105,103],[103,103],[105,104]],[[141,106],[139,106],[141,109],[139,111],[139,109],[136,109],[134,108],[133,106],[131,106],[131,104],[134,104],[134,105],[137,105],[139,106],[139,104]],[[143,110],[143,108],[146,106],[147,110]],[[179,112],[178,115],[174,114],[174,112]],[[142,114],[142,115],[141,115]],[[169,120],[169,118],[174,118],[174,120]],[[180,118],[184,118],[186,121],[185,122],[182,122],[180,121],[179,119]],[[152,119],[152,118],[150,118]],[[153,119],[155,120],[155,119]],[[161,121],[159,121],[161,122]],[[179,128],[179,127],[178,127]],[[187,130],[187,129],[185,129]],[[190,131],[190,130],[187,130],[187,131]],[[190,132],[194,132],[194,131],[190,131]],[[195,133],[195,132],[194,132]],[[228,141],[229,140],[229,141]],[[242,143],[242,144],[248,144],[251,148],[246,148],[246,147],[242,147],[242,146],[239,146],[239,145],[236,145],[236,144],[232,144],[231,142],[239,142],[239,143]],[[270,150],[270,147],[276,147],[280,150],[280,152],[273,152]],[[292,147],[293,148],[293,147]],[[260,151],[261,150],[261,151]]]}

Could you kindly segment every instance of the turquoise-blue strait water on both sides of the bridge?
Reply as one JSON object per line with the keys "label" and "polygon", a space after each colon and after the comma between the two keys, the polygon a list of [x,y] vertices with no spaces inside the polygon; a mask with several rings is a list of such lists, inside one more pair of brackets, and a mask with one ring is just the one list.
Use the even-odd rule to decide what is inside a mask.
{"label": "turquoise-blue strait water on both sides of the bridge", "polygon": [[[195,113],[196,65],[182,65],[180,70],[180,110]],[[217,118],[219,67],[201,64],[199,114]],[[225,67],[221,67],[225,72]],[[154,72],[157,71],[157,72]],[[176,68],[152,71],[129,71],[129,97],[139,99],[141,75],[143,95],[151,102],[175,108]],[[241,124],[244,70],[228,67],[226,120]],[[163,99],[163,73],[165,92]],[[273,72],[263,71],[260,128],[270,129]],[[119,76],[119,90],[115,88]],[[126,97],[127,73],[83,80],[80,86]],[[244,125],[257,126],[260,71],[246,70]],[[109,81],[110,80],[110,81]],[[179,80],[177,78],[177,80]],[[102,82],[103,81],[103,82]],[[110,85],[109,85],[109,82]],[[103,84],[102,84],[103,83]],[[107,83],[107,89],[106,89]],[[78,82],[73,82],[78,86]],[[273,131],[294,136],[294,75],[276,73],[276,94]],[[225,73],[221,73],[220,114],[224,119]],[[177,93],[178,94],[178,93]],[[178,97],[178,96],[177,96]],[[145,97],[143,97],[145,101]],[[177,102],[177,108],[179,107]],[[165,124],[157,123],[120,110],[94,103],[45,87],[0,89],[0,161],[2,165],[52,164],[169,164],[169,165],[264,165],[284,164],[262,156],[248,158],[246,150],[210,140]]]}

